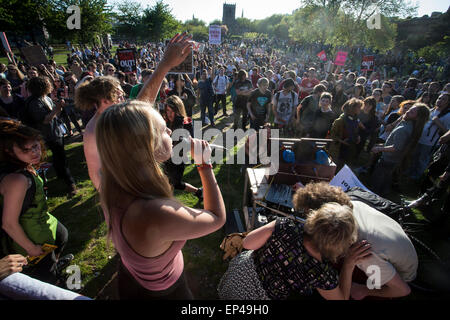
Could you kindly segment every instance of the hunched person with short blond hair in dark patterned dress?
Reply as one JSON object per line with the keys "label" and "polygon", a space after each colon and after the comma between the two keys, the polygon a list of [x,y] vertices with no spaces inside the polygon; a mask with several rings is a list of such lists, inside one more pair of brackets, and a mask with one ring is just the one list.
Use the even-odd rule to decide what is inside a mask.
{"label": "hunched person with short blond hair in dark patterned dress", "polygon": [[[356,238],[357,225],[345,205],[324,203],[308,213],[305,223],[278,217],[245,237],[247,250],[231,260],[217,288],[219,297],[286,300],[318,292],[327,300],[348,300],[353,270],[370,254],[370,245],[355,243]],[[341,256],[338,273],[333,263]]]}

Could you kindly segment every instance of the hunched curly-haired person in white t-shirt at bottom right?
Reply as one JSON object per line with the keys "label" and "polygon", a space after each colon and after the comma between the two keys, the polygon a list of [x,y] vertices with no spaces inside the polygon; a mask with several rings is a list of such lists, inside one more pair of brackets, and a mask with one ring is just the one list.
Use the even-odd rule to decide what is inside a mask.
{"label": "hunched curly-haired person in white t-shirt at bottom right", "polygon": [[417,275],[418,257],[414,245],[400,224],[361,201],[351,200],[341,188],[326,182],[307,184],[305,188],[298,189],[293,197],[297,212],[317,210],[325,203],[338,203],[352,208],[357,240],[367,240],[371,245],[371,254],[359,260],[356,267],[366,277],[373,274],[373,266],[380,271],[379,288],[369,289],[367,282],[353,282],[351,297],[360,300],[367,296],[407,296],[411,292],[408,282],[413,281]]}

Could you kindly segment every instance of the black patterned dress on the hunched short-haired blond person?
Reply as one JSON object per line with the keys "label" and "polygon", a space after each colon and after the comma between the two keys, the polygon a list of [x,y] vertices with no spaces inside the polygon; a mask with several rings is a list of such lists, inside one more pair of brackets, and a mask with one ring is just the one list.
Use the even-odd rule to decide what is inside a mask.
{"label": "black patterned dress on the hunched short-haired blond person", "polygon": [[237,255],[222,277],[218,292],[227,300],[285,300],[293,294],[332,290],[339,284],[329,262],[310,256],[303,245],[303,225],[278,218],[260,249]]}

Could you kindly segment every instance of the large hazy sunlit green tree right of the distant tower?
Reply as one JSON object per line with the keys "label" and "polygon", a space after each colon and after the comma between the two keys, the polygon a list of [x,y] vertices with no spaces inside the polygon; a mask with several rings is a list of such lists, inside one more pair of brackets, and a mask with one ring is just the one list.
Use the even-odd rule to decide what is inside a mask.
{"label": "large hazy sunlit green tree right of the distant tower", "polygon": [[[382,52],[395,44],[396,27],[387,17],[408,16],[416,11],[405,0],[304,0],[288,18],[289,35],[303,42],[337,46],[367,46]],[[381,28],[369,29],[367,21],[380,14]]]}

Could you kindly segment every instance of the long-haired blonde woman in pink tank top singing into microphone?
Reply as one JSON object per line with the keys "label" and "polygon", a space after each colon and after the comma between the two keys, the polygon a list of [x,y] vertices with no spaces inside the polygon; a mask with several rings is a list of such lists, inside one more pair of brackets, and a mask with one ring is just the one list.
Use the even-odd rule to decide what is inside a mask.
{"label": "long-haired blonde woman in pink tank top singing into microphone", "polygon": [[[160,168],[171,156],[171,133],[150,104],[138,101],[108,108],[97,122],[100,201],[109,236],[121,257],[121,299],[192,299],[181,249],[186,240],[225,224],[225,205],[206,141],[191,140],[204,209],[189,208],[174,199]],[[197,149],[205,152],[194,153]]]}

